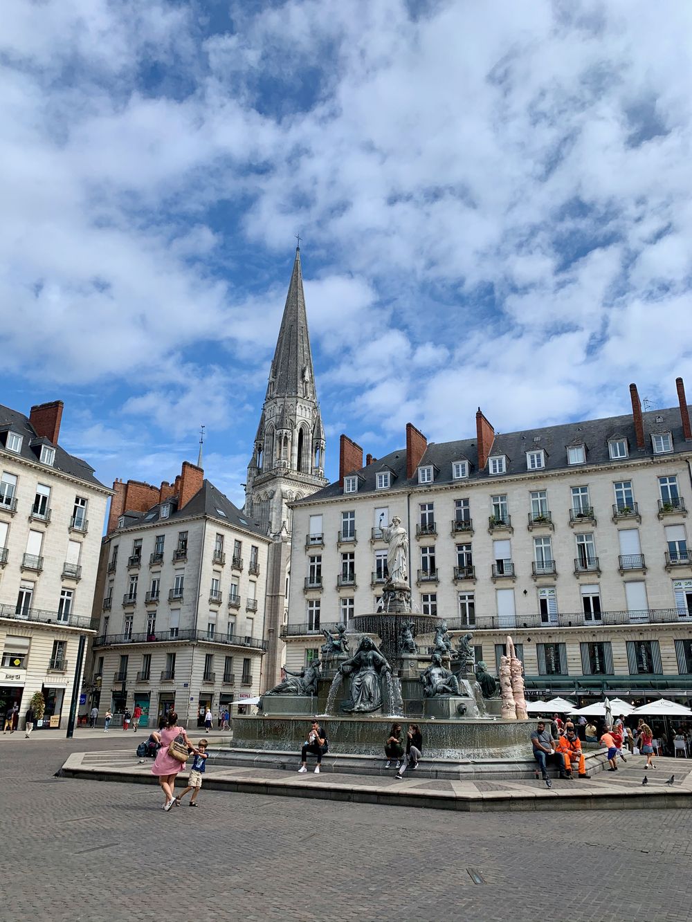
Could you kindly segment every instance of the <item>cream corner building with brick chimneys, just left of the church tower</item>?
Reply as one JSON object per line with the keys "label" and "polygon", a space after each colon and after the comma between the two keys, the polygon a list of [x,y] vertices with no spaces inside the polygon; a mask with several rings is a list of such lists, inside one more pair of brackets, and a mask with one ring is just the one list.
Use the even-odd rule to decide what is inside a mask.
{"label": "cream corner building with brick chimneys, just left of the church tower", "polygon": [[113,484],[89,673],[101,716],[139,704],[143,726],[175,709],[201,727],[209,707],[216,726],[257,696],[270,543],[188,462],[160,487]]}

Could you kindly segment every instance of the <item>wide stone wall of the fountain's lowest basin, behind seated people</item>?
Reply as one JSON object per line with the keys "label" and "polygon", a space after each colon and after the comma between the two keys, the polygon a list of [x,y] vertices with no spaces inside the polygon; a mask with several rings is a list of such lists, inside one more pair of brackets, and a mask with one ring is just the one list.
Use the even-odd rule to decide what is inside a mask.
{"label": "wide stone wall of the fountain's lowest basin, behind seated people", "polygon": [[[233,749],[260,751],[300,751],[312,715],[267,715],[233,717]],[[327,733],[330,754],[383,756],[391,717],[319,716]],[[531,758],[531,730],[535,720],[418,719],[423,733],[426,759],[503,759]],[[399,723],[406,731],[408,722]]]}

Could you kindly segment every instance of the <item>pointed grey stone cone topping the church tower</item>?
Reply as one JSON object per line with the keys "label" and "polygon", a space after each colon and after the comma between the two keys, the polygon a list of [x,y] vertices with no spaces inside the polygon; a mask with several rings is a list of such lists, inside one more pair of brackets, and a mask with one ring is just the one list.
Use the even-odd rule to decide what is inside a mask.
{"label": "pointed grey stone cone topping the church tower", "polygon": [[279,339],[271,362],[267,396],[315,397],[315,375],[307,332],[303,272],[300,246],[295,261],[286,304],[283,308]]}

